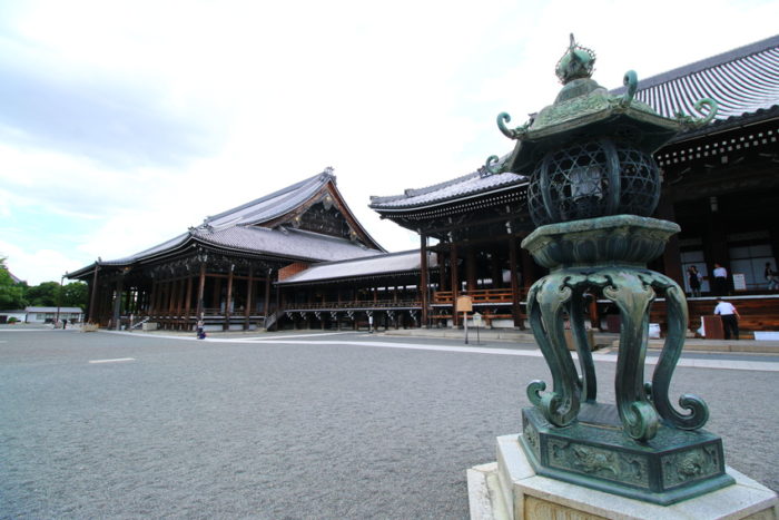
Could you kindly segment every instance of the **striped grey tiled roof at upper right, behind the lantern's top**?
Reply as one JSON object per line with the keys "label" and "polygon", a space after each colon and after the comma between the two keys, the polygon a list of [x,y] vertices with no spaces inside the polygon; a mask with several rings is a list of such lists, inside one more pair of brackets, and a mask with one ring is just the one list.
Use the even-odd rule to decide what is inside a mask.
{"label": "striped grey tiled roof at upper right, behind the lantern's top", "polygon": [[779,105],[779,36],[642,79],[635,97],[665,117],[696,115],[704,97],[717,101],[720,120],[769,109]]}

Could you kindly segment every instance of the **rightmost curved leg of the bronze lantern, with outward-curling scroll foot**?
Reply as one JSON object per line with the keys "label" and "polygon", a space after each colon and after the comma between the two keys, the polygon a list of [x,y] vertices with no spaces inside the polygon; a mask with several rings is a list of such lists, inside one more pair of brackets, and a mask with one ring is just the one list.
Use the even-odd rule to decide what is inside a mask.
{"label": "rightmost curved leg of the bronze lantern, with outward-curling scroll foot", "polygon": [[652,285],[664,290],[668,306],[668,335],[652,375],[652,401],[660,416],[673,426],[680,430],[697,430],[709,420],[706,402],[692,394],[682,395],[679,398],[679,405],[690,412],[683,415],[673,409],[668,396],[671,376],[684,346],[687,300],[674,281],[659,273],[652,273]]}

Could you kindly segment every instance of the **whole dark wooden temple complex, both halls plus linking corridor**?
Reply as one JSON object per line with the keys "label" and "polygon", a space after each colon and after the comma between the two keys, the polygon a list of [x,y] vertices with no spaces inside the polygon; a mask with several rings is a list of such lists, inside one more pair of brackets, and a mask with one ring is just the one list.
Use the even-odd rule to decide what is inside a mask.
{"label": "whole dark wooden temple complex, both halls plus linking corridor", "polygon": [[[714,264],[728,271],[724,291],[741,298],[742,328],[779,326],[779,295],[763,276],[779,253],[771,209],[779,207],[779,36],[640,79],[635,98],[681,120],[700,115],[700,98],[718,105],[710,122],[690,125],[654,154],[662,177],[655,216],[682,230],[650,268],[688,293],[687,271],[698,268],[702,297],[688,301],[691,326],[713,308]],[[507,141],[499,165],[511,148]],[[328,168],[68,276],[90,284],[87,320],[102,326],[149,321],[191,330],[198,317],[221,330],[458,326],[454,302],[467,295],[486,325],[522,328],[526,292],[545,274],[520,247],[535,228],[529,174],[487,161],[451,180],[372,197],[382,218],[418,233],[420,249],[411,252],[386,253],[368,235]],[[652,307],[658,320],[663,305]],[[595,327],[612,322],[596,294],[589,311]]]}

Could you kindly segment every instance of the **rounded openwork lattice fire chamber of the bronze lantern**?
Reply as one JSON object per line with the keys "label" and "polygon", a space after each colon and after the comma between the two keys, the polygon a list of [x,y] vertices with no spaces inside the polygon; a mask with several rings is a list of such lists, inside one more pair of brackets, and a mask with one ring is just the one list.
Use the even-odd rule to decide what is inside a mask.
{"label": "rounded openwork lattice fire chamber of the bronze lantern", "polygon": [[536,226],[609,215],[650,216],[659,198],[659,168],[652,156],[608,137],[548,151],[527,188]]}

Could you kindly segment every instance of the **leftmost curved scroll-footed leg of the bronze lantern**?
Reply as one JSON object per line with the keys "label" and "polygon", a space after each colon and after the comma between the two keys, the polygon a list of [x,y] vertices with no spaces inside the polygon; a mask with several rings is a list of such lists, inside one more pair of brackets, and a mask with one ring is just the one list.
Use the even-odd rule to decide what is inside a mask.
{"label": "leftmost curved scroll-footed leg of the bronze lantern", "polygon": [[571,424],[580,408],[579,374],[565,345],[563,311],[572,294],[565,278],[562,273],[550,274],[533,284],[527,294],[533,335],[554,384],[552,392],[544,392],[546,383],[533,381],[527,385],[527,398],[556,426]]}

